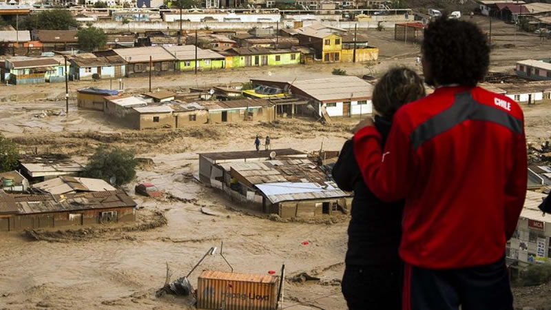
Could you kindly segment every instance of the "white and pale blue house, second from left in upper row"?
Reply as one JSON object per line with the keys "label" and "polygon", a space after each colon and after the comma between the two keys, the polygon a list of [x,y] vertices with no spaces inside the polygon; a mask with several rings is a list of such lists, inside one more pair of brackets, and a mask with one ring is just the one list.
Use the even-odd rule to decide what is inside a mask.
{"label": "white and pale blue house, second from left in upper row", "polygon": [[75,80],[118,79],[125,76],[125,60],[121,56],[77,54],[70,59],[70,76]]}

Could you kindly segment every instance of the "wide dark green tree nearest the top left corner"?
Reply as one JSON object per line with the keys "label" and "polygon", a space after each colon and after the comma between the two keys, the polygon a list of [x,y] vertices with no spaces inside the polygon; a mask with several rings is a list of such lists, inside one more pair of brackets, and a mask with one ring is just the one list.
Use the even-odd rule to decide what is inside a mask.
{"label": "wide dark green tree nearest the top left corner", "polygon": [[39,14],[32,14],[25,17],[19,25],[19,30],[33,28],[41,30],[69,30],[76,28],[79,22],[74,19],[69,10],[56,8],[54,10],[45,10]]}

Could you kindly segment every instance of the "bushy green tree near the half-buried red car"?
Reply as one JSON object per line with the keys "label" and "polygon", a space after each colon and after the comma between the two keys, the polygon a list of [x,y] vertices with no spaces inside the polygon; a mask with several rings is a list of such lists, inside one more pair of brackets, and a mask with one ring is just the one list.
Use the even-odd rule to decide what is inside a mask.
{"label": "bushy green tree near the half-buried red car", "polygon": [[114,185],[121,186],[136,176],[136,165],[138,162],[132,150],[101,146],[88,158],[83,176],[101,178],[107,182],[114,178]]}

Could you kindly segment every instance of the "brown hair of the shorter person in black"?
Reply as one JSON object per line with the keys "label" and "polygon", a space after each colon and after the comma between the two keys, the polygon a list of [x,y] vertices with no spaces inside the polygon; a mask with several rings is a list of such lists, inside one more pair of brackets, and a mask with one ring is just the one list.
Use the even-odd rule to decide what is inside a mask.
{"label": "brown hair of the shorter person in black", "polygon": [[375,84],[371,101],[377,114],[392,120],[402,105],[425,96],[423,80],[415,71],[406,67],[388,70]]}

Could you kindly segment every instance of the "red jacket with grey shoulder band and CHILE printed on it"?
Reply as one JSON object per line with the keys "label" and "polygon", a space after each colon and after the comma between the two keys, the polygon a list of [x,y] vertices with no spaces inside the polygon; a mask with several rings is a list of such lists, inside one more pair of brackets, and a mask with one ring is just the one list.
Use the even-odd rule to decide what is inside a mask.
{"label": "red jacket with grey shoulder band and CHILE printed on it", "polygon": [[441,87],[401,107],[384,151],[374,127],[354,136],[366,185],[405,199],[399,253],[410,265],[452,269],[503,256],[526,196],[523,113],[481,87]]}

